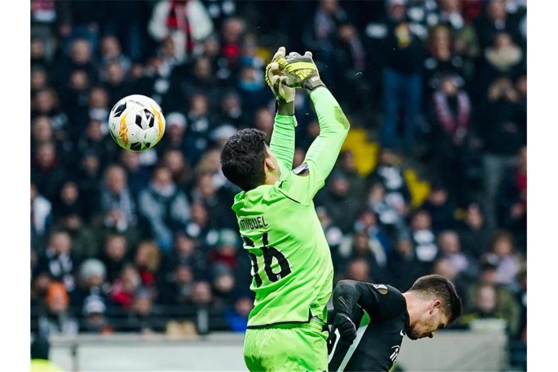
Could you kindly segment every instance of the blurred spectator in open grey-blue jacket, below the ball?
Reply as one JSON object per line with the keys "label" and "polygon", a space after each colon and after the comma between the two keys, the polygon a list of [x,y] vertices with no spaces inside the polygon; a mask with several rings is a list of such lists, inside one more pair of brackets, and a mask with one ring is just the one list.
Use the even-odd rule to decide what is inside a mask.
{"label": "blurred spectator in open grey-blue jacket, below the ball", "polygon": [[147,189],[140,193],[140,211],[150,225],[157,244],[165,252],[172,247],[176,231],[184,229],[190,218],[190,204],[186,195],[172,181],[168,168],[157,168]]}

